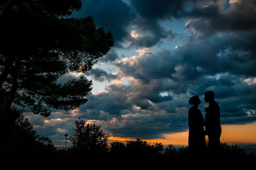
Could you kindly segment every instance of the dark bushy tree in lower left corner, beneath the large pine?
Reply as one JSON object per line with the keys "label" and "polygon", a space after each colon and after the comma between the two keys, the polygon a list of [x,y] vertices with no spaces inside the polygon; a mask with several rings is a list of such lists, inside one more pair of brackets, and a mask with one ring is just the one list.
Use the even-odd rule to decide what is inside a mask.
{"label": "dark bushy tree in lower left corner, beneath the large pine", "polygon": [[28,119],[22,115],[21,110],[12,107],[10,112],[16,118],[13,117],[14,124],[9,130],[8,136],[4,136],[0,141],[1,152],[10,156],[44,156],[56,150],[51,139],[36,134]]}

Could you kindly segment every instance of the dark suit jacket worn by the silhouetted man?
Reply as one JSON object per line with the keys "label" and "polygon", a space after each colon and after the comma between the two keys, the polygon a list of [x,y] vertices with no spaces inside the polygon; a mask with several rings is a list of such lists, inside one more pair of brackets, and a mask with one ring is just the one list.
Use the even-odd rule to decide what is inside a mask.
{"label": "dark suit jacket worn by the silhouetted man", "polygon": [[205,131],[207,135],[220,134],[220,107],[215,100],[209,102],[205,115]]}

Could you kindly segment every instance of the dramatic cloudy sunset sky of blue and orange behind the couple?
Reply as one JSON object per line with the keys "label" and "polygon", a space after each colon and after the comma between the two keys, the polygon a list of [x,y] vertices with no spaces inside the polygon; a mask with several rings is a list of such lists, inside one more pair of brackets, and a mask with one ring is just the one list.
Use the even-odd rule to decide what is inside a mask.
{"label": "dramatic cloudy sunset sky of blue and orange behind the couple", "polygon": [[[65,145],[75,120],[101,125],[110,141],[187,145],[188,100],[212,90],[222,142],[256,144],[255,0],[83,0],[72,17],[92,15],[115,44],[87,72],[89,101],[45,118],[25,109],[39,135]],[[71,145],[68,141],[67,145]]]}

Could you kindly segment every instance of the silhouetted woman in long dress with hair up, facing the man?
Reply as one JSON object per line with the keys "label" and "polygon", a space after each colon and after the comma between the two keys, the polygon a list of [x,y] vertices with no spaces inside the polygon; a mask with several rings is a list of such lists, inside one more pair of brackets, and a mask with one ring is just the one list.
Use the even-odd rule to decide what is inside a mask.
{"label": "silhouetted woman in long dress with hair up, facing the man", "polygon": [[197,108],[201,104],[199,96],[189,99],[189,104],[193,105],[189,109],[189,154],[203,154],[206,150],[204,126],[205,120],[201,111]]}

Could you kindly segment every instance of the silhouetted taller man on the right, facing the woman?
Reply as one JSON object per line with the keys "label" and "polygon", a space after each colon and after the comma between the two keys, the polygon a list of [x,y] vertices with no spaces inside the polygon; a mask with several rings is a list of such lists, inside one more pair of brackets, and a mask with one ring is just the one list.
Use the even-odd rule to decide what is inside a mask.
{"label": "silhouetted taller man on the right, facing the woman", "polygon": [[209,106],[205,108],[205,135],[208,135],[209,150],[212,152],[218,152],[220,148],[220,107],[214,100],[214,92],[205,92],[205,102],[209,103]]}

